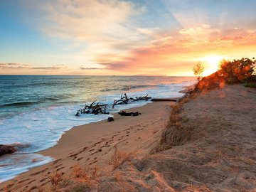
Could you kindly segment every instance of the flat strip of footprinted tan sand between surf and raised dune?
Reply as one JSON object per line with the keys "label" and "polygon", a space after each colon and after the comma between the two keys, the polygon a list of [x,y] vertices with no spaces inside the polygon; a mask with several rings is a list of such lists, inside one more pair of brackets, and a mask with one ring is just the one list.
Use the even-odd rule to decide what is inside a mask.
{"label": "flat strip of footprinted tan sand between surf and raised dune", "polygon": [[[111,158],[112,152],[114,151],[113,146],[118,146],[120,150],[124,151],[139,149],[138,155],[143,156],[143,154],[148,153],[150,149],[152,149],[153,146],[155,146],[157,141],[160,139],[161,132],[159,132],[159,125],[161,129],[165,128],[167,119],[169,117],[169,106],[171,105],[171,103],[175,102],[151,102],[147,103],[146,105],[142,105],[141,107],[134,107],[126,110],[127,112],[141,112],[142,114],[137,117],[123,117],[117,113],[114,113],[114,122],[107,122],[107,119],[105,119],[100,122],[92,122],[89,124],[83,124],[71,128],[70,130],[62,134],[60,140],[55,146],[52,146],[43,151],[38,151],[38,153],[36,153],[42,154],[43,156],[51,156],[55,159],[54,161],[51,161],[50,163],[41,166],[36,166],[35,168],[29,169],[28,171],[24,172],[23,174],[19,174],[18,176],[12,178],[9,181],[4,181],[3,183],[0,183],[0,189],[4,188],[4,186],[11,185],[11,188],[12,186],[16,188],[15,190],[17,190],[17,188],[18,190],[21,190],[22,188],[22,190],[24,191],[33,191],[36,190],[36,188],[34,188],[34,185],[36,183],[48,185],[49,181],[46,181],[46,183],[40,182],[40,178],[42,177],[43,173],[46,174],[45,176],[49,176],[49,173],[53,173],[54,171],[64,171],[63,173],[66,173],[70,171],[70,167],[74,166],[74,164],[76,163],[79,163],[81,165],[105,164],[105,162],[103,161]],[[155,110],[156,108],[158,110]],[[142,122],[146,124],[146,122],[149,122],[150,119],[154,119],[151,124],[149,123],[146,126],[142,125]],[[156,122],[158,122],[159,125],[154,125],[154,123]],[[141,142],[149,142],[151,137],[149,137],[148,140],[142,139],[142,137],[145,136],[144,134],[148,133],[142,134],[140,139],[138,139],[139,137],[137,137],[137,139],[133,138],[133,144],[128,144],[129,140],[131,140],[129,139],[131,131],[125,130],[134,129],[134,127],[139,127],[135,132],[145,132],[144,127],[154,130],[151,132],[151,134],[154,132],[155,141],[153,142],[151,140],[151,142],[153,142],[149,144],[152,145],[151,147],[146,149],[145,146],[140,145]],[[121,132],[125,133],[119,136]],[[119,136],[119,139],[115,140],[114,137],[117,136]],[[106,142],[107,140],[110,140],[110,142]],[[107,143],[107,145],[100,146],[103,143]],[[102,155],[104,157],[100,158],[99,156],[97,156],[97,153],[100,151],[100,149],[97,149],[98,151],[95,151],[95,146],[99,148],[102,147],[100,148],[101,151],[103,151],[103,149],[105,148],[110,149],[108,149],[108,151],[104,155]],[[81,153],[83,154],[83,156],[80,156]],[[90,156],[95,157],[94,159],[90,159]],[[60,164],[60,162],[62,162],[61,164],[65,166],[53,166],[55,164]],[[31,176],[33,179],[31,178]],[[31,179],[28,179],[28,182],[26,182],[23,181],[22,178]]]}

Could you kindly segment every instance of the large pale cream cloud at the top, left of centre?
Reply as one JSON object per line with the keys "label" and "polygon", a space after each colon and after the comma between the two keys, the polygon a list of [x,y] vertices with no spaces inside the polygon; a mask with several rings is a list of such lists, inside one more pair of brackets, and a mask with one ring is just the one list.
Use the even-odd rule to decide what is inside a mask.
{"label": "large pale cream cloud at the top, left of centre", "polygon": [[124,38],[137,41],[139,32],[131,20],[144,12],[143,6],[118,0],[26,0],[23,6],[29,14],[33,12],[28,22],[46,36],[74,41],[87,49],[93,43],[92,48],[102,51],[122,44]]}

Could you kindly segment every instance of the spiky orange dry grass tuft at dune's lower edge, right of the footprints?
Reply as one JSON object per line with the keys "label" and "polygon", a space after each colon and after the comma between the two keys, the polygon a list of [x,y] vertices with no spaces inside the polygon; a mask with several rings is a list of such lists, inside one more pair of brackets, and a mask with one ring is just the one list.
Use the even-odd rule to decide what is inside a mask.
{"label": "spiky orange dry grass tuft at dune's lower edge, right of the footprints", "polygon": [[114,146],[114,154],[110,159],[109,164],[113,166],[113,170],[117,169],[120,165],[124,164],[126,161],[131,161],[134,159],[135,153],[134,152],[124,152],[118,151],[117,146]]}

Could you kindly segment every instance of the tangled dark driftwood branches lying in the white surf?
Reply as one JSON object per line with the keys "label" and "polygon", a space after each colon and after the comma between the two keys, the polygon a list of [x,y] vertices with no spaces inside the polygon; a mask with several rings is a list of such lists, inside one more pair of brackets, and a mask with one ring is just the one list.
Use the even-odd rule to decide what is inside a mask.
{"label": "tangled dark driftwood branches lying in the white surf", "polygon": [[119,100],[114,100],[112,105],[108,105],[108,104],[99,104],[99,102],[97,102],[97,104],[95,104],[96,100],[94,102],[92,102],[90,105],[86,105],[83,109],[78,110],[78,112],[75,114],[75,116],[80,116],[80,114],[109,114],[108,109],[109,107],[112,106],[112,108],[114,108],[115,105],[123,105],[123,104],[128,104],[129,102],[136,102],[139,100],[150,100],[151,97],[148,97],[148,95],[144,96],[144,97],[127,97],[126,93],[122,93],[121,97]]}

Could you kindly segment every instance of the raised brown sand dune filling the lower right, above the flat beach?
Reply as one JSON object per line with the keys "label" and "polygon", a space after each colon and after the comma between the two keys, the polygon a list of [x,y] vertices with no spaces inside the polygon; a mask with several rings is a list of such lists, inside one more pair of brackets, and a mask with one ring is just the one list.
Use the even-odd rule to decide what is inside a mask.
{"label": "raised brown sand dune filling the lower right, above the flat beach", "polygon": [[[134,191],[256,191],[255,96],[255,89],[230,85],[190,100],[180,113],[182,126],[193,127],[190,138],[123,165],[123,182]],[[166,132],[178,135],[175,129]],[[122,191],[123,183],[107,181],[104,190]]]}

